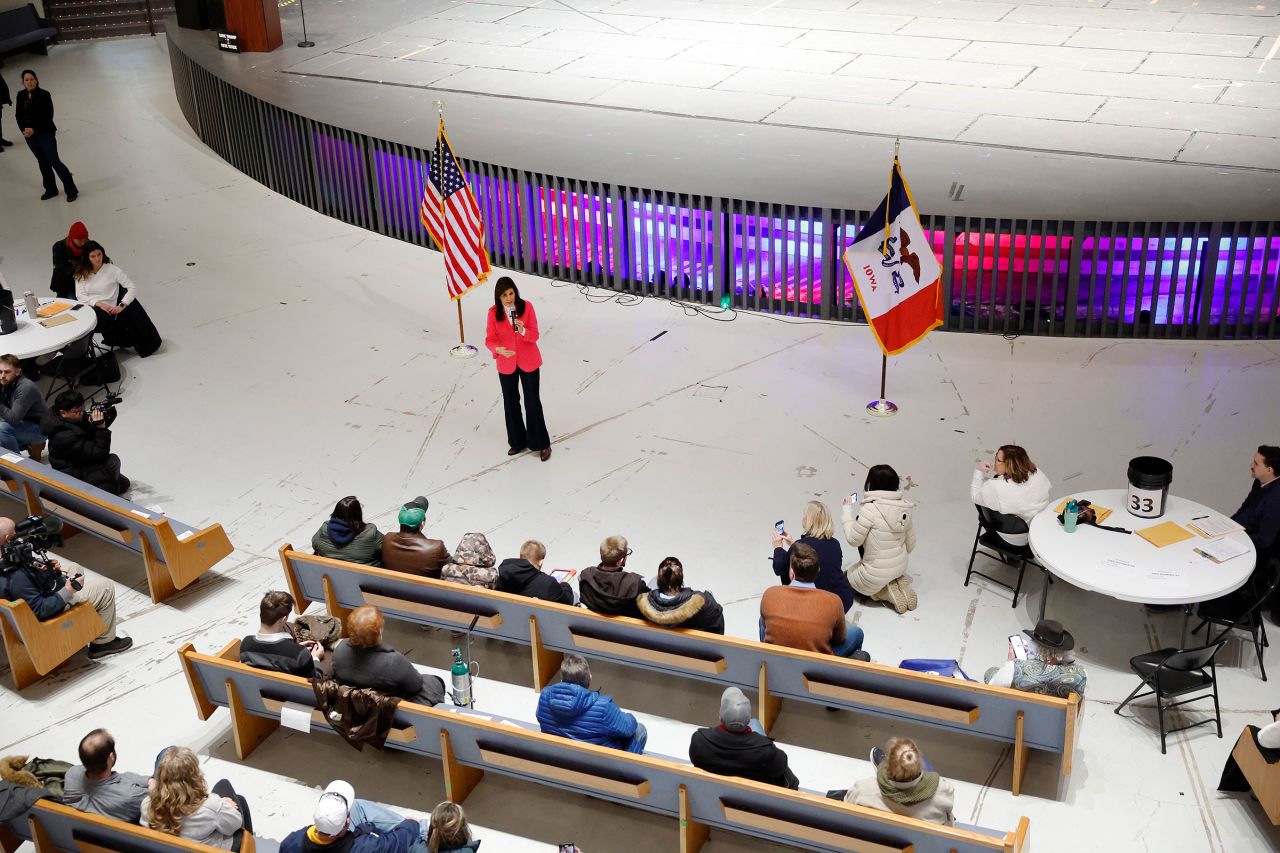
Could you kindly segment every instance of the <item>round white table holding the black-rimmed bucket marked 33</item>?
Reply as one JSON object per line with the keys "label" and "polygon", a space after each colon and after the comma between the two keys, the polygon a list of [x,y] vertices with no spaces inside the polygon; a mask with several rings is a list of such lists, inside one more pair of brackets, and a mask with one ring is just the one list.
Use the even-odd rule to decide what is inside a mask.
{"label": "round white table holding the black-rimmed bucket marked 33", "polygon": [[[1125,534],[1082,524],[1075,533],[1066,533],[1053,511],[1062,498],[1051,501],[1048,507],[1032,519],[1032,552],[1055,578],[1073,587],[1120,601],[1188,606],[1239,589],[1253,573],[1257,551],[1243,530],[1231,533],[1228,538],[1248,547],[1249,552],[1222,564],[1193,551],[1204,542],[1194,530],[1188,529],[1190,539],[1164,548],[1157,548],[1137,534],[1137,530],[1165,521],[1187,528],[1187,523],[1198,516],[1221,515],[1196,501],[1170,494],[1165,502],[1165,515],[1142,519],[1129,515],[1124,508],[1125,489],[1073,492],[1069,497],[1084,498],[1112,510],[1103,525],[1134,530],[1133,534]],[[1043,602],[1041,616],[1043,617]]]}

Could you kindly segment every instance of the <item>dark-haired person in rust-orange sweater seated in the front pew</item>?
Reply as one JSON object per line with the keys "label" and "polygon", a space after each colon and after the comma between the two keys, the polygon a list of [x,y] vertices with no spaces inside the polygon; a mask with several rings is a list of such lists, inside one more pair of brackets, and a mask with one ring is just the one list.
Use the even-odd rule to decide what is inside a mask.
{"label": "dark-haired person in rust-orange sweater seated in the front pew", "polygon": [[806,652],[869,660],[855,654],[864,633],[845,625],[840,596],[818,589],[818,552],[804,542],[791,546],[791,583],[769,587],[760,599],[760,642]]}

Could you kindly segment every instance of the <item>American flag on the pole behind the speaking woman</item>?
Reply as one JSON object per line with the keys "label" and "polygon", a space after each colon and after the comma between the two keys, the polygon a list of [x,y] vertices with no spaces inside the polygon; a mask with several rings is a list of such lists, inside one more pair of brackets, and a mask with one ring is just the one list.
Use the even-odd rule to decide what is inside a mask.
{"label": "American flag on the pole behind the speaking woman", "polygon": [[444,122],[440,122],[435,150],[431,151],[419,218],[444,254],[444,283],[451,300],[460,298],[489,277],[484,220],[458,161],[453,159],[453,149],[444,136]]}

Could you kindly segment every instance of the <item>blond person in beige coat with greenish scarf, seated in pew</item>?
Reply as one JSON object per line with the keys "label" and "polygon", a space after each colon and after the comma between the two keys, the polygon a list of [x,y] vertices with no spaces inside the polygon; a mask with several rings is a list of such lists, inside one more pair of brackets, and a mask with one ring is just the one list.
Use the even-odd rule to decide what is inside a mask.
{"label": "blond person in beige coat with greenish scarf, seated in pew", "polygon": [[[873,761],[878,752],[872,753]],[[928,767],[910,738],[891,739],[876,775],[855,783],[845,792],[845,802],[943,826],[956,822],[955,786]]]}

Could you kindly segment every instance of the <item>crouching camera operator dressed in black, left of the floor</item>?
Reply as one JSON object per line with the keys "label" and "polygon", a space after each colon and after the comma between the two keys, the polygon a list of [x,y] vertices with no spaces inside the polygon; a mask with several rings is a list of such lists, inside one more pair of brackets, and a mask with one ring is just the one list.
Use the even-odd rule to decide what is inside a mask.
{"label": "crouching camera operator dressed in black, left of the floor", "polygon": [[120,474],[120,457],[111,452],[115,402],[119,398],[108,397],[86,414],[84,396],[64,391],[54,400],[54,411],[41,423],[41,430],[49,437],[49,464],[56,470],[111,494],[124,494],[129,478]]}

